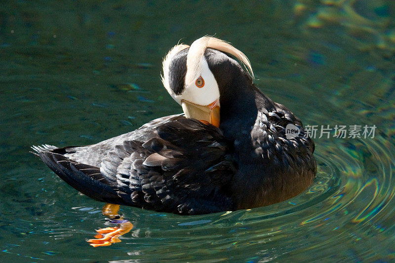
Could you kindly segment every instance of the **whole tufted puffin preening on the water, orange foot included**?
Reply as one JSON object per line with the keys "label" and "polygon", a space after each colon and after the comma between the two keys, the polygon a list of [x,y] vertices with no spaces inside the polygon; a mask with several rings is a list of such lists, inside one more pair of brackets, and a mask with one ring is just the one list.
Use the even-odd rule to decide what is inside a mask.
{"label": "whole tufted puffin preening on the water, orange foot included", "polygon": [[[103,214],[116,226],[97,230],[92,246],[120,242],[133,227],[119,205],[208,214],[281,202],[311,185],[313,140],[255,86],[248,58],[230,43],[202,37],[174,46],[162,82],[184,114],[94,145],[32,147],[66,183],[107,203]],[[290,124],[298,134],[286,134]]]}

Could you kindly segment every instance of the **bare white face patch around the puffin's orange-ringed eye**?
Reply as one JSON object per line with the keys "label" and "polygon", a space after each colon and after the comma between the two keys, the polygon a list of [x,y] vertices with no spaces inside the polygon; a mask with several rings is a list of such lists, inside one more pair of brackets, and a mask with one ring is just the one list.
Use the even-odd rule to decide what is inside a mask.
{"label": "bare white face patch around the puffin's orange-ringed eye", "polygon": [[[203,58],[201,63],[200,76],[204,80],[204,86],[199,88],[196,79],[190,81],[185,86],[184,92],[180,95],[172,95],[175,101],[181,104],[181,100],[186,100],[197,105],[206,106],[219,99],[219,88],[214,75],[208,68],[206,60]],[[219,106],[219,105],[218,105]]]}

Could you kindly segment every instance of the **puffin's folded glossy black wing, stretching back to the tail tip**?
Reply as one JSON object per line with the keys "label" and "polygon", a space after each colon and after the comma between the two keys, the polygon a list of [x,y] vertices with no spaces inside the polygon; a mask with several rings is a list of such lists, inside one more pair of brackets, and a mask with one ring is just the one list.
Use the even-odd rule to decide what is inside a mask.
{"label": "puffin's folded glossy black wing, stretching back to the tail tip", "polygon": [[73,161],[61,154],[63,149],[42,149],[39,155],[63,180],[96,200],[177,214],[234,209],[228,190],[236,168],[216,127],[176,116],[146,137],[116,145],[98,166]]}

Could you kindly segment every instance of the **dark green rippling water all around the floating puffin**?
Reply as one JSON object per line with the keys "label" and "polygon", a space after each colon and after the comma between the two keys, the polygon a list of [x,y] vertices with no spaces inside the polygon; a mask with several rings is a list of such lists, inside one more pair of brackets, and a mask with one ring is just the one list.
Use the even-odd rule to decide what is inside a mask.
{"label": "dark green rippling water all around the floating puffin", "polygon": [[[92,248],[102,203],[31,145],[93,144],[181,109],[159,79],[180,39],[213,35],[305,125],[376,125],[319,137],[304,193],[249,211],[177,216],[121,207],[134,229]],[[395,3],[1,1],[0,262],[395,261]]]}

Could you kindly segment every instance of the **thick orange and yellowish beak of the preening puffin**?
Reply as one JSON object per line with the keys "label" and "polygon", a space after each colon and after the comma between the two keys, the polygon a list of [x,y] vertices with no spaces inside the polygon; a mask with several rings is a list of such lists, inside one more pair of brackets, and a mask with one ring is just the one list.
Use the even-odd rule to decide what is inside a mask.
{"label": "thick orange and yellowish beak of the preening puffin", "polygon": [[210,123],[219,127],[220,121],[220,107],[219,100],[216,100],[209,105],[201,106],[195,103],[182,100],[181,106],[187,118],[194,118],[203,123]]}

